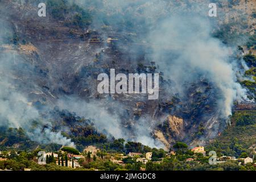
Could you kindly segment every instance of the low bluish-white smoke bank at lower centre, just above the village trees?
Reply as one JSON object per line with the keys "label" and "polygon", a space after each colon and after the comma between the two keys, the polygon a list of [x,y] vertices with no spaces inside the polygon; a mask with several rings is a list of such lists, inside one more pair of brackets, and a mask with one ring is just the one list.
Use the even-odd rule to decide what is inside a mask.
{"label": "low bluish-white smoke bank at lower centre, just above the village trees", "polygon": [[[69,110],[80,117],[90,119],[96,129],[106,135],[115,138],[123,138],[141,142],[150,147],[162,147],[162,143],[151,136],[152,128],[148,125],[148,119],[137,121],[133,129],[129,130],[123,126],[122,120],[127,119],[125,108],[118,101],[92,100],[85,102],[78,97],[65,97],[57,101],[60,109]],[[154,122],[152,122],[154,123]]]}

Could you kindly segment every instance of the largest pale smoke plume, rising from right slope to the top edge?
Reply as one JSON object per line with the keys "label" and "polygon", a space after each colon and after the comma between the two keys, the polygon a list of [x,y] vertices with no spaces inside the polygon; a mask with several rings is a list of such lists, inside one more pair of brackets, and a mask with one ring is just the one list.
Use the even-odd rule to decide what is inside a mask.
{"label": "largest pale smoke plume, rising from right slope to the top edge", "polygon": [[[183,84],[198,75],[208,78],[222,97],[218,101],[219,114],[228,118],[232,114],[234,101],[247,100],[246,90],[237,82],[236,60],[230,59],[236,47],[226,47],[221,40],[212,37],[216,19],[208,17],[209,1],[189,3],[187,1],[70,1],[88,9],[94,7],[92,27],[102,26],[104,14],[110,26],[122,30],[120,22],[130,20],[141,26],[134,27],[138,40],[150,43],[154,60],[164,72],[165,78],[175,81],[177,92],[185,92]],[[223,2],[226,4],[227,2]],[[218,14],[223,12],[218,9]],[[145,30],[146,34],[139,34]],[[146,36],[145,36],[146,35]]]}

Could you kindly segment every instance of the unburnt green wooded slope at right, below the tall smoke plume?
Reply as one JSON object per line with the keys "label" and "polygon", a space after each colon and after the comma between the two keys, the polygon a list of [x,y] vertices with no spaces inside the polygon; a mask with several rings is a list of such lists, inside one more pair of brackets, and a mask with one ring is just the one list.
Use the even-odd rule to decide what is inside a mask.
{"label": "unburnt green wooded slope at right, below the tall smoke plume", "polygon": [[240,156],[242,152],[255,154],[255,110],[239,110],[232,116],[232,124],[208,146],[220,155]]}

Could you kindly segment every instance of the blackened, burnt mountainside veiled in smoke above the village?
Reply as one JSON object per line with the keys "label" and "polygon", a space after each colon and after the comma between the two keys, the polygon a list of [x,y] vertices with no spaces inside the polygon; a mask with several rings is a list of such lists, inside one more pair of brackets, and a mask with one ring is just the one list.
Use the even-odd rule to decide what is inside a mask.
{"label": "blackened, burnt mountainside veiled in smoke above the village", "polygon": [[[199,46],[201,42],[189,45],[194,40],[185,35],[191,34],[190,37],[198,40],[201,34],[208,34],[204,32],[207,27],[200,27],[194,19],[183,19],[184,24],[193,22],[191,30],[187,31],[173,18],[168,19],[170,11],[176,10],[179,14],[177,7],[180,7],[179,11],[188,10],[194,14],[197,6],[190,1],[162,1],[152,12],[148,9],[154,2],[152,5],[138,2],[131,3],[133,6],[128,3],[117,7],[107,2],[103,5],[98,1],[86,3],[88,7],[75,1],[46,1],[47,17],[40,18],[37,1],[1,2],[1,60],[4,60],[1,64],[8,63],[6,69],[1,69],[1,75],[11,83],[8,90],[22,93],[26,104],[39,112],[39,118],[51,120],[48,112],[58,106],[92,120],[102,133],[151,146],[163,147],[155,138],[167,148],[176,140],[193,145],[204,144],[225,129],[228,115],[222,113],[225,113],[225,107],[233,107],[233,100],[226,99],[226,96],[229,97],[242,86],[235,88],[238,81],[233,73],[230,73],[232,80],[221,80],[221,75],[218,77],[214,73],[234,71],[240,77],[240,72],[244,72],[244,68],[240,68],[243,60],[239,51],[228,49],[221,43],[216,44],[219,47],[214,47],[216,45],[212,42],[217,38],[225,45],[235,44],[236,48],[240,40],[254,35],[255,9],[251,6],[254,1],[219,3],[220,15],[211,20],[215,26],[209,37],[207,35],[203,39],[215,38],[211,44],[203,42],[203,47]],[[168,6],[164,7],[166,3]],[[208,6],[204,1],[198,3]],[[246,11],[242,9],[244,3]],[[234,12],[233,17],[228,17],[230,15],[225,14],[227,11]],[[240,11],[245,13],[239,16]],[[151,13],[153,17],[148,16]],[[207,8],[199,12],[207,13]],[[247,22],[241,22],[242,18]],[[168,19],[167,24],[170,22],[173,25],[166,27],[165,19]],[[202,30],[196,30],[196,27]],[[172,32],[175,28],[177,32]],[[184,35],[179,35],[180,30],[184,30]],[[169,37],[175,34],[177,38]],[[183,43],[183,38],[188,39],[188,43]],[[210,47],[212,44],[214,46]],[[191,49],[197,46],[199,49]],[[193,61],[200,60],[200,57],[202,60],[209,57],[206,64],[211,63],[210,59],[220,59],[211,55],[204,46],[220,50],[213,52],[213,55],[233,51],[229,53],[232,61],[223,61],[224,65],[218,65],[222,60],[213,62],[217,65],[212,72],[206,66],[201,67],[200,61],[200,65],[193,65]],[[247,49],[254,48],[250,46]],[[196,56],[189,57],[189,52],[195,52]],[[209,55],[200,55],[201,52]],[[222,66],[224,72],[218,72]],[[159,99],[150,101],[143,94],[98,94],[97,76],[100,73],[109,74],[110,68],[125,74],[160,73]],[[228,71],[225,71],[226,68]],[[223,81],[221,85],[218,79]],[[234,82],[230,88],[235,89],[226,89],[226,82]],[[5,94],[1,97],[9,100]],[[223,100],[229,100],[228,106],[222,104]],[[236,100],[251,102],[242,96]],[[231,114],[232,110],[227,110]],[[50,123],[52,131],[63,131],[63,127],[56,127],[60,123]],[[74,130],[72,126],[65,126],[65,129],[68,127]]]}

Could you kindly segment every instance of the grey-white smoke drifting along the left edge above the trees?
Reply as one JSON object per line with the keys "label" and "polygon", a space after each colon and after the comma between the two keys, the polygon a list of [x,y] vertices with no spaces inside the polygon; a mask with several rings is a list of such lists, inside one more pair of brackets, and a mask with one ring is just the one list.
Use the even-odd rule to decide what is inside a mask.
{"label": "grey-white smoke drifting along the left edge above the trees", "polygon": [[[43,125],[49,125],[43,119],[39,111],[28,101],[26,94],[22,92],[30,84],[24,84],[24,75],[30,72],[26,60],[22,59],[14,45],[4,44],[4,33],[9,26],[1,20],[0,45],[6,51],[0,52],[0,126],[22,127],[31,140],[40,143],[57,143],[65,146],[75,146],[71,139],[55,133],[51,129],[44,129]],[[11,34],[11,36],[13,36]],[[32,68],[31,68],[32,69]],[[32,122],[40,121],[36,128],[32,129]]]}

